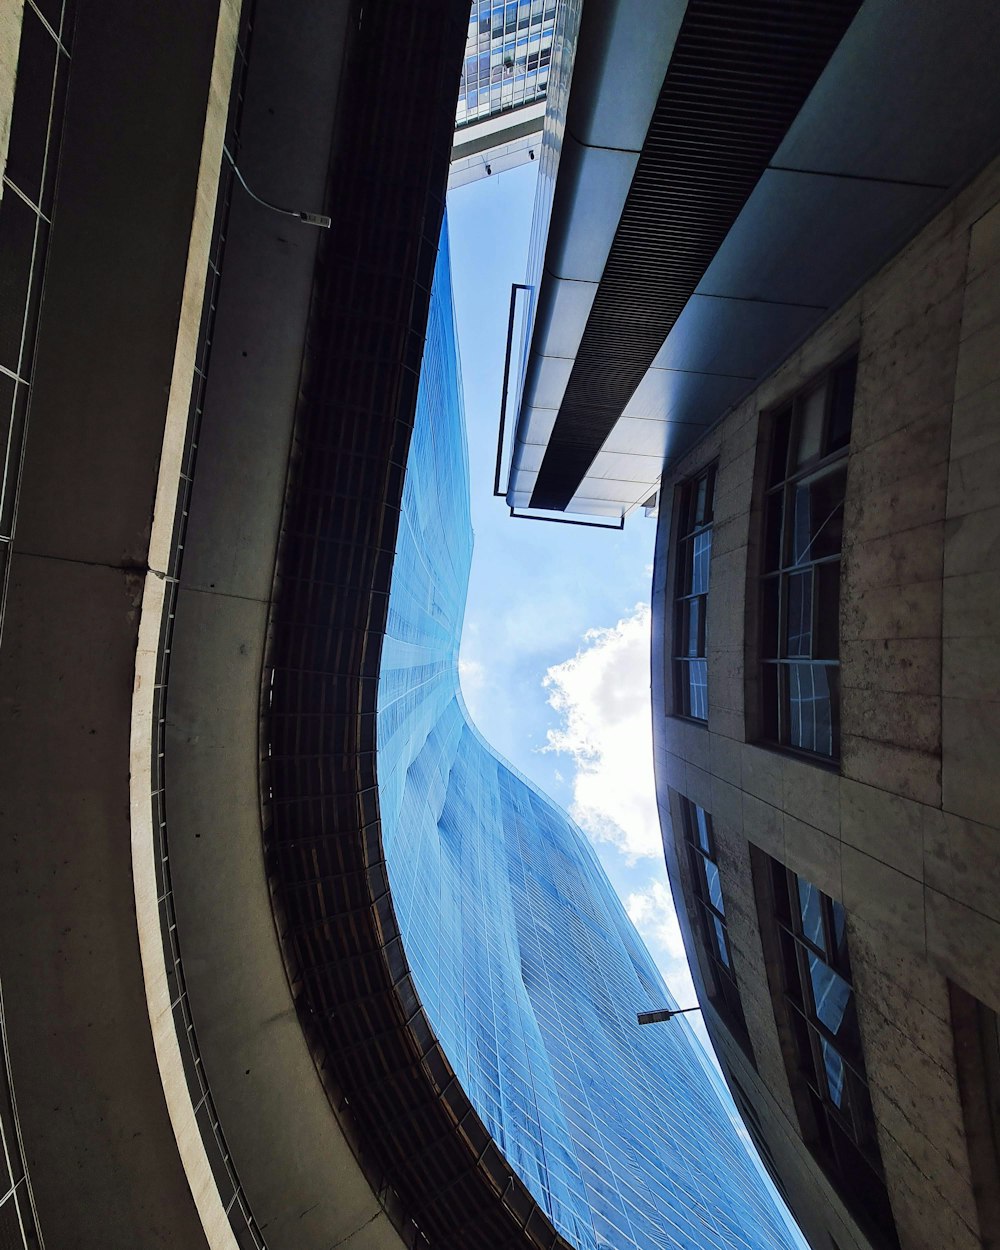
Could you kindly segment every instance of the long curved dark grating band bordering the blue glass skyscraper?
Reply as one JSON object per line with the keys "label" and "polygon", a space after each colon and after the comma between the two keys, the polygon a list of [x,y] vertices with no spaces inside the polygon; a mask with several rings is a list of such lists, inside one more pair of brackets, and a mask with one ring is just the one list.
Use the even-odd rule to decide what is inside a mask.
{"label": "long curved dark grating band bordering the blue glass skyscraper", "polygon": [[271,898],[320,1079],[404,1244],[569,1250],[455,1078],[389,891],[379,660],[469,9],[358,8],[264,671]]}

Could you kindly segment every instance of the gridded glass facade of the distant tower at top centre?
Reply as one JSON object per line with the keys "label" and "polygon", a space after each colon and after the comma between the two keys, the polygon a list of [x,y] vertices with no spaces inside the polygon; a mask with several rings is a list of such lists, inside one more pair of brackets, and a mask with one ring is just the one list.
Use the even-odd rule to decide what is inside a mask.
{"label": "gridded glass facade of the distant tower at top centre", "polygon": [[455,125],[545,99],[556,0],[472,0]]}

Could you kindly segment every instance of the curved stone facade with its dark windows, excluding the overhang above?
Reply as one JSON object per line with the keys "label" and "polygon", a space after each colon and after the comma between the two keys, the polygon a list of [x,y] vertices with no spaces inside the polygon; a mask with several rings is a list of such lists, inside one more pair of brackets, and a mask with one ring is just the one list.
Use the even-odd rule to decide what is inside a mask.
{"label": "curved stone facade with its dark windows, excluding the overhang above", "polygon": [[816,1250],[1000,1238],[1000,162],[662,479],[699,999]]}

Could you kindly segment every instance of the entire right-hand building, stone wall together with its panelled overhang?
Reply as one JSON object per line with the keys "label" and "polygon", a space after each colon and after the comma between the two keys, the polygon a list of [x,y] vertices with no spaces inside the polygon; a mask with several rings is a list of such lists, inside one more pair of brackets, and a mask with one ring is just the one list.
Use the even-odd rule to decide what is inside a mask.
{"label": "entire right-hand building, stone wall together with its panelled overhang", "polygon": [[506,499],[659,512],[668,870],[814,1250],[1000,1239],[999,50],[979,0],[585,5],[541,159]]}

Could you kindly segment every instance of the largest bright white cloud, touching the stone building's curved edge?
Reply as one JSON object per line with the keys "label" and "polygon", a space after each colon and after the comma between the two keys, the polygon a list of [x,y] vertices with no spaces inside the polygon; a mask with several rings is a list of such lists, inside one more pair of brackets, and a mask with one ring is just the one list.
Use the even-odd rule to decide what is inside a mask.
{"label": "largest bright white cloud, touching the stone building's curved edge", "polygon": [[560,724],[544,750],[571,758],[570,812],[595,841],[629,864],[662,855],[652,781],[648,604],[610,629],[592,629],[571,660],[552,665],[544,686]]}

